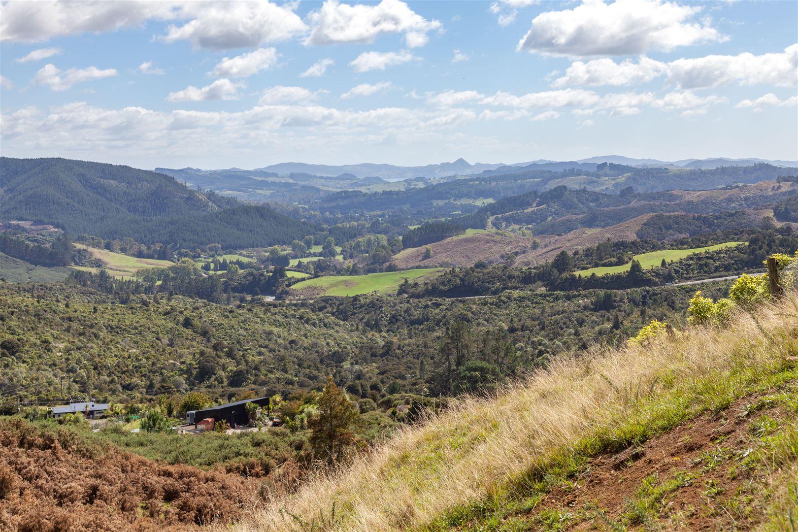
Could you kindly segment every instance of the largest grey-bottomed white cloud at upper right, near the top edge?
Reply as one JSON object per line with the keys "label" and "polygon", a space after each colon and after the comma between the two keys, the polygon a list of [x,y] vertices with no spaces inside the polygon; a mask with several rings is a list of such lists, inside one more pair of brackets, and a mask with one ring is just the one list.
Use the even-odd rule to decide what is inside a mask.
{"label": "largest grey-bottomed white cloud at upper right, near the top edge", "polygon": [[708,20],[689,22],[701,6],[662,0],[584,0],[572,10],[548,11],[532,20],[518,50],[569,57],[633,55],[649,50],[723,41]]}

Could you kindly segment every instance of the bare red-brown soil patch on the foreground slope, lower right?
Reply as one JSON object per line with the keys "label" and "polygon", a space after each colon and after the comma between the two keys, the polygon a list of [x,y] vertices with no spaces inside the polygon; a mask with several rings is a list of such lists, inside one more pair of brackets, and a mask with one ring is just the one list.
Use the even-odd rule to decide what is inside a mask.
{"label": "bare red-brown soil patch on the foreground slope, lower right", "polygon": [[[681,530],[753,528],[763,516],[749,511],[758,494],[746,481],[757,471],[741,467],[740,459],[757,447],[753,424],[762,416],[778,419],[782,412],[772,408],[746,414],[745,404],[751,402],[751,398],[737,400],[721,414],[697,417],[639,447],[591,459],[574,485],[555,487],[530,518],[542,510],[560,510],[584,516],[572,523],[571,530],[607,528],[628,515],[630,501],[639,498],[646,478],[662,486],[681,475],[685,480],[662,495],[653,512],[661,525]],[[740,507],[745,511],[735,510],[729,504],[732,499],[744,502]],[[649,523],[633,520],[631,524],[642,528]]]}

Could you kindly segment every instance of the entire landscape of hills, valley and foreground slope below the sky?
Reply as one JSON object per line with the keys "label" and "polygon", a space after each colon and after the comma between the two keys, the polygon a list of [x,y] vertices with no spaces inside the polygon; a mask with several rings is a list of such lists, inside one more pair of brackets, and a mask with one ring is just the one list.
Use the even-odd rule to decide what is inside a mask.
{"label": "entire landscape of hills, valley and foreground slope below the sky", "polygon": [[[345,176],[323,193],[308,187],[338,178],[284,175],[268,179],[298,180],[301,194],[262,204],[129,167],[0,165],[0,515],[15,526],[44,512],[107,530],[292,530],[281,508],[323,514],[325,530],[631,526],[670,518],[670,506],[635,510],[643,490],[692,500],[672,471],[729,490],[742,480],[701,465],[713,447],[697,432],[682,453],[694,467],[654,478],[612,463],[675,449],[689,420],[792,385],[777,353],[793,338],[761,274],[777,258],[792,290],[798,231],[776,211],[798,195],[798,168],[532,164],[385,186]],[[710,184],[667,188],[684,174]],[[630,182],[648,184],[618,188]],[[758,328],[737,311],[754,308]],[[735,342],[757,346],[756,366],[727,356]],[[728,363],[710,371],[709,358]],[[239,404],[243,417],[220,413]],[[54,419],[59,405],[76,410]],[[789,421],[769,421],[780,405],[746,427],[791,438]],[[741,477],[753,496],[778,479],[769,440],[749,430],[733,448],[760,449]],[[53,453],[59,490],[76,471],[114,479],[65,499],[30,475]],[[629,481],[618,502],[562,495],[614,475]],[[219,506],[222,491],[233,495]]]}

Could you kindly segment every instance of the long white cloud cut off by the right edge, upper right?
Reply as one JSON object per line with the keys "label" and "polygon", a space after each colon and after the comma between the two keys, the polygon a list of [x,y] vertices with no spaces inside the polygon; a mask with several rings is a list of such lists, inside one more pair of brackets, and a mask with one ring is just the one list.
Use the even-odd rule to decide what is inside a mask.
{"label": "long white cloud cut off by the right edge, upper right", "polygon": [[668,65],[668,81],[680,89],[705,89],[739,81],[741,85],[769,83],[780,87],[798,82],[798,44],[784,52],[709,55],[677,59]]}

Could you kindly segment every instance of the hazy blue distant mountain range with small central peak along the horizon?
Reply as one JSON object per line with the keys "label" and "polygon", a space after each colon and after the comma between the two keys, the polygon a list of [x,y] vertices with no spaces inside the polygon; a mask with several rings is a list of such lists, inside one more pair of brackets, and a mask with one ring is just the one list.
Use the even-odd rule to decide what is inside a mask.
{"label": "hazy blue distant mountain range with small central peak along the horizon", "polygon": [[[554,160],[534,160],[526,163],[513,163],[513,164],[485,164],[476,163],[470,164],[464,159],[458,159],[452,163],[428,164],[426,166],[395,166],[393,164],[306,164],[306,163],[280,163],[271,164],[267,167],[255,168],[254,170],[246,171],[240,168],[227,168],[223,170],[199,170],[197,168],[183,168],[181,170],[172,170],[170,168],[156,168],[156,171],[174,175],[180,179],[179,174],[184,172],[188,177],[191,175],[196,179],[196,176],[205,173],[207,177],[227,179],[233,177],[248,179],[253,177],[266,177],[268,175],[290,175],[290,174],[308,174],[335,177],[342,174],[349,174],[358,179],[365,177],[380,177],[386,181],[399,181],[401,179],[413,179],[423,177],[426,179],[434,179],[440,177],[448,177],[451,175],[474,175],[483,171],[497,171],[497,173],[505,173],[509,171],[519,171],[524,168],[528,170],[551,170],[562,171],[570,168],[579,168],[584,171],[595,171],[596,165],[601,163],[623,164],[626,166],[634,167],[681,167],[690,168],[693,170],[706,170],[724,166],[753,166],[759,163],[768,163],[780,167],[798,167],[798,161],[788,160],[764,160],[764,159],[728,159],[725,157],[718,157],[715,159],[685,159],[677,161],[662,161],[656,159],[634,159],[625,156],[598,156],[589,157],[587,159],[580,159],[575,161],[554,161]],[[212,178],[211,178],[212,179]],[[191,180],[190,180],[191,181]]]}

